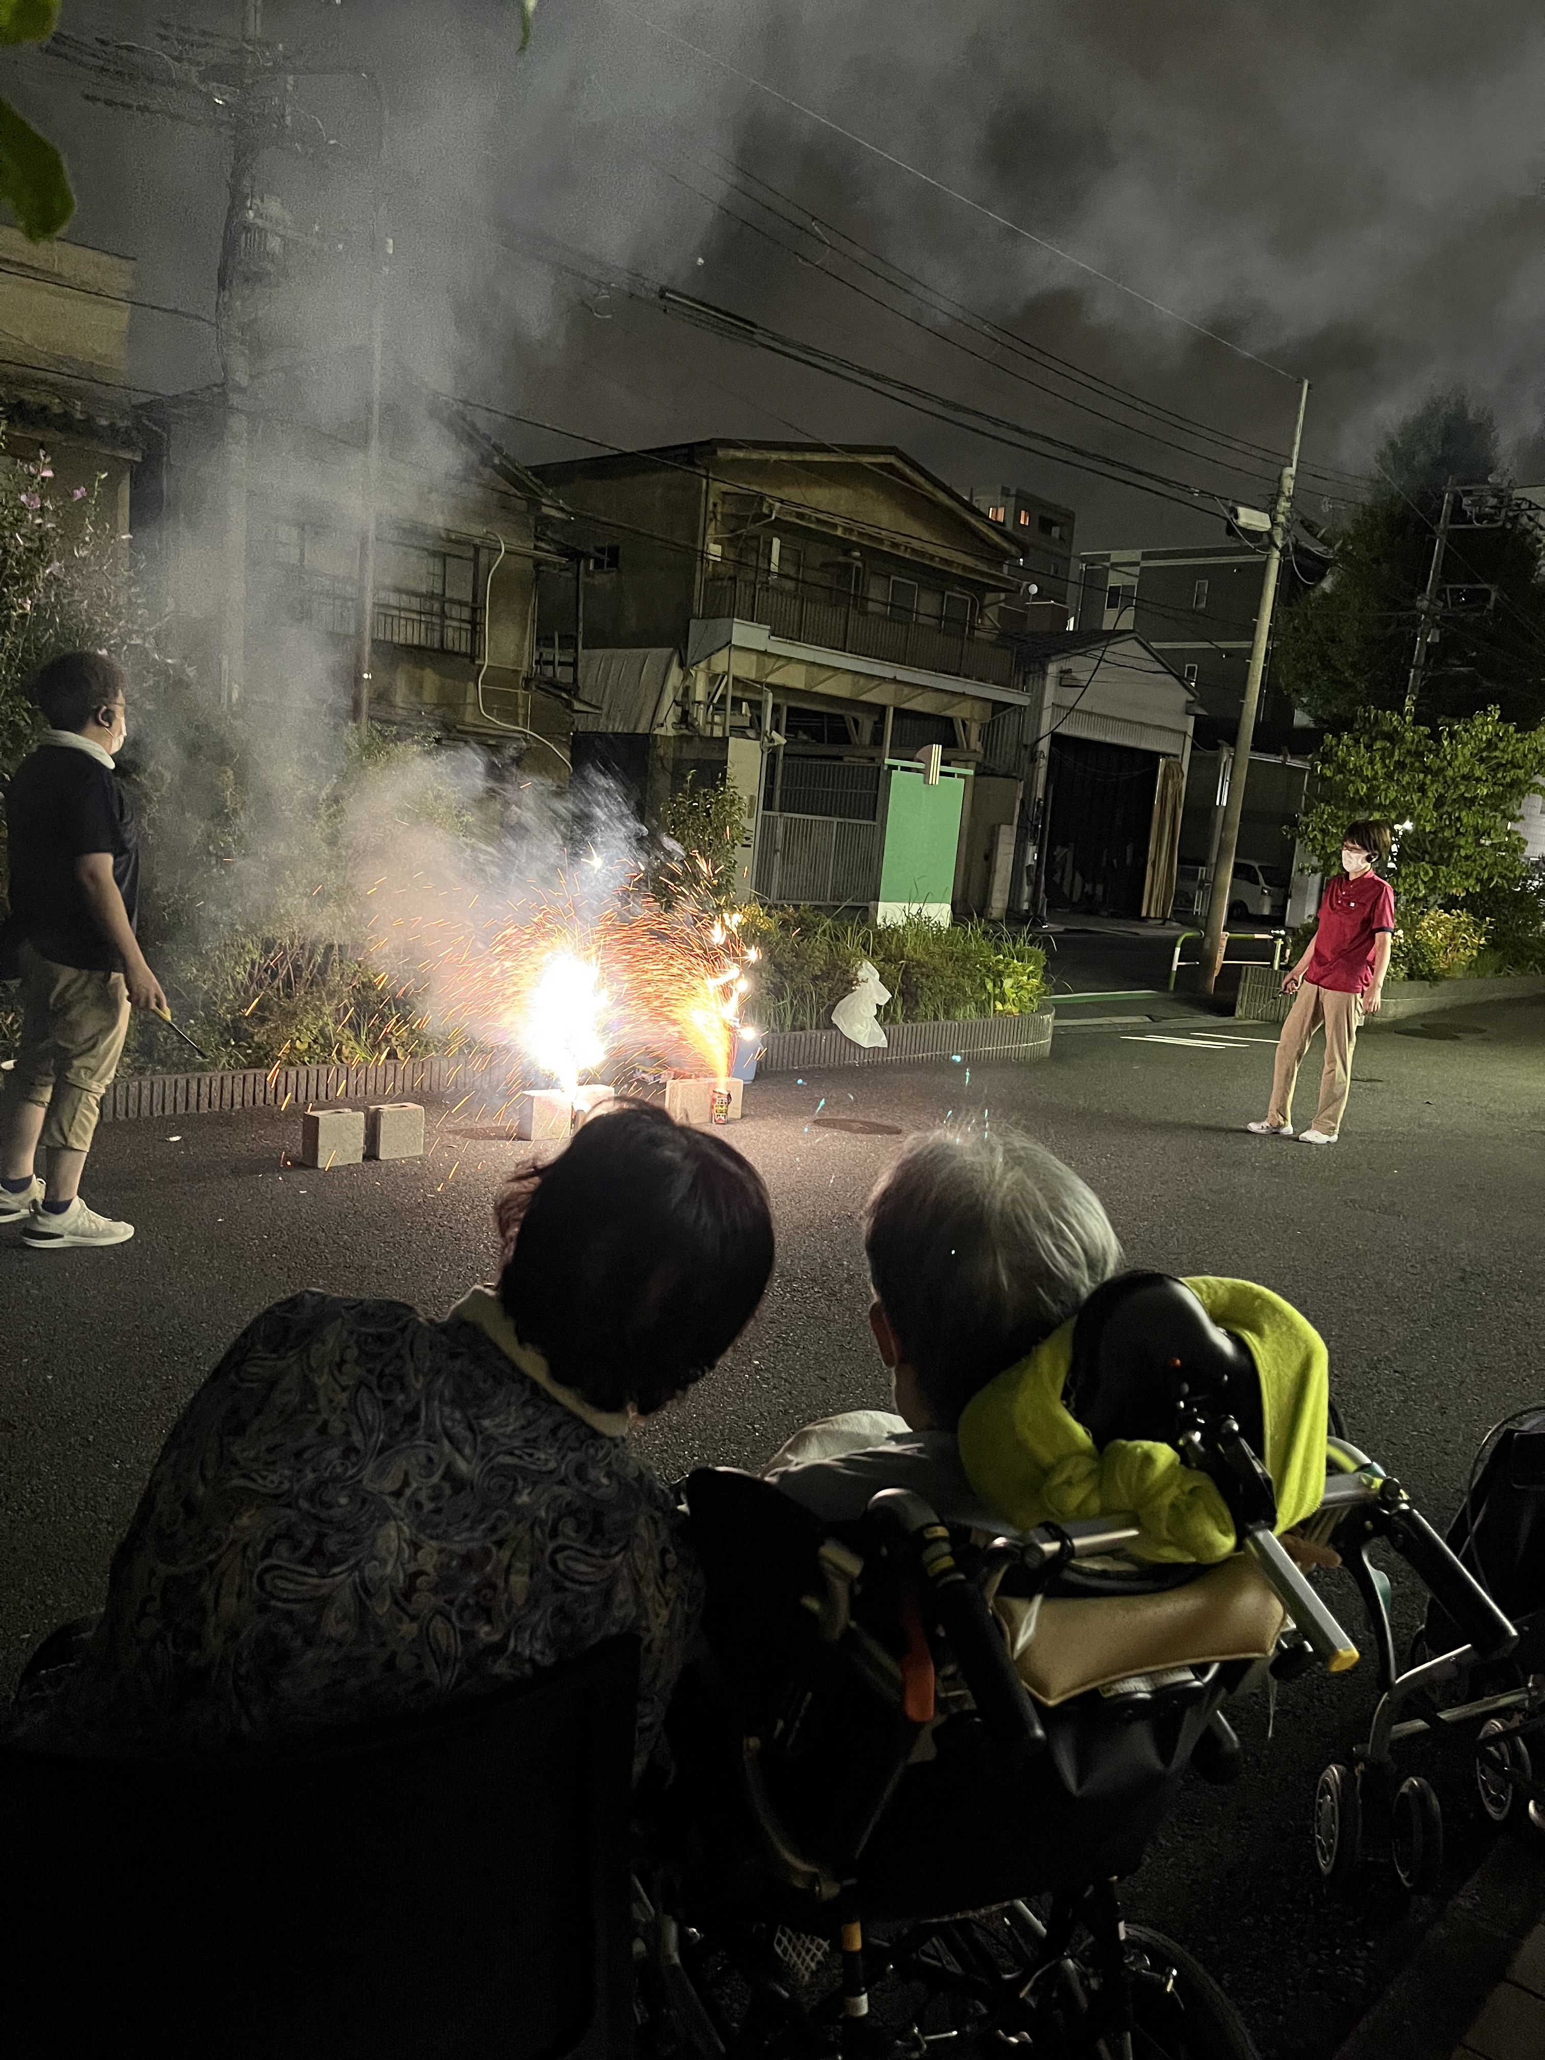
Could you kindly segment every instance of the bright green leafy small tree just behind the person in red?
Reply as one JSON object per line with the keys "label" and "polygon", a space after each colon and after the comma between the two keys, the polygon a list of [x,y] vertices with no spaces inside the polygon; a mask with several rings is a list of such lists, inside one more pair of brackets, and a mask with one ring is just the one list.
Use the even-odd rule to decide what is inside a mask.
{"label": "bright green leafy small tree just behind the person in red", "polygon": [[1496,709],[1438,729],[1370,709],[1327,737],[1312,781],[1314,805],[1298,834],[1327,873],[1349,822],[1397,826],[1390,882],[1403,927],[1426,908],[1524,890],[1529,865],[1514,822],[1524,795],[1545,789],[1545,729],[1518,731]]}

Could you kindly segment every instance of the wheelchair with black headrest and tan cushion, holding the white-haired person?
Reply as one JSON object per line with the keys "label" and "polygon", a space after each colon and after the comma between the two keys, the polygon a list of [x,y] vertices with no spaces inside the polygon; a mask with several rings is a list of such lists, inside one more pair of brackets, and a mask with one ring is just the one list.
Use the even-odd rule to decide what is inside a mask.
{"label": "wheelchair with black headrest and tan cushion, holding the white-haired person", "polygon": [[[1145,1564],[1123,1516],[983,1535],[884,1489],[828,1524],[744,1473],[686,1481],[707,1650],[641,1817],[653,2060],[1255,2054],[1205,1969],[1123,1920],[1119,1883],[1187,1772],[1238,1772],[1232,1697],[1358,1654],[1275,1537],[1240,1339],[1162,1275],[1108,1283],[1077,1325],[1069,1409],[1098,1446],[1162,1436],[1207,1471],[1232,1557]],[[1329,1432],[1327,1452],[1339,1522],[1358,1477]],[[1491,1609],[1409,1498],[1370,1494],[1397,1545],[1436,1543],[1452,1607]]]}

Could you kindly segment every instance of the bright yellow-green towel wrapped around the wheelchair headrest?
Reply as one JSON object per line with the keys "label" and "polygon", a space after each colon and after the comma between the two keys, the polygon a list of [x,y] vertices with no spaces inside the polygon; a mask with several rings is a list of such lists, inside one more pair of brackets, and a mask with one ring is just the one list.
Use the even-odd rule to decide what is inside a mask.
{"label": "bright yellow-green towel wrapped around the wheelchair headrest", "polygon": [[[1329,1362],[1325,1339],[1296,1308],[1252,1281],[1187,1281],[1213,1323],[1240,1337],[1261,1374],[1265,1461],[1277,1489],[1277,1531],[1320,1506]],[[1112,1438],[1100,1452],[1063,1407],[1073,1320],[972,1397],[960,1417],[960,1458],[989,1510],[1020,1531],[1135,1512],[1145,1559],[1226,1559],[1234,1522],[1205,1473],[1168,1444]]]}

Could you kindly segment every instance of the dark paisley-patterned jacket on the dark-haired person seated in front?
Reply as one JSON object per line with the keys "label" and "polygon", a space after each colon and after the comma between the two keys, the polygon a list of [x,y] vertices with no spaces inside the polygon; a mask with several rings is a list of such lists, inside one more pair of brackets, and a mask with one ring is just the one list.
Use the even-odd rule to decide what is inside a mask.
{"label": "dark paisley-patterned jacket on the dark-haired person seated in front", "polygon": [[167,1438],[101,1623],[21,1691],[12,1741],[352,1724],[632,1632],[643,1767],[700,1574],[624,1432],[556,1386],[486,1290],[443,1323],[315,1292],[274,1304]]}

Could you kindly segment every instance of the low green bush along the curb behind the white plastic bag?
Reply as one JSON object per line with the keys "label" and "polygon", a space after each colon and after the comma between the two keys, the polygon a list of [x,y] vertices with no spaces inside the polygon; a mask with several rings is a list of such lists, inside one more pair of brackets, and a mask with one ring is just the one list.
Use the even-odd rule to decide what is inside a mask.
{"label": "low green bush along the curb behind the white plastic bag", "polygon": [[865,958],[890,989],[884,1024],[1032,1016],[1046,989],[1046,954],[987,923],[873,925],[754,906],[740,933],[760,952],[746,1014],[762,1030],[824,1030]]}

